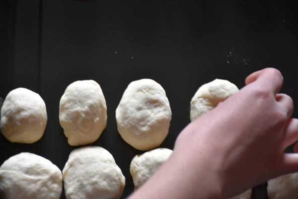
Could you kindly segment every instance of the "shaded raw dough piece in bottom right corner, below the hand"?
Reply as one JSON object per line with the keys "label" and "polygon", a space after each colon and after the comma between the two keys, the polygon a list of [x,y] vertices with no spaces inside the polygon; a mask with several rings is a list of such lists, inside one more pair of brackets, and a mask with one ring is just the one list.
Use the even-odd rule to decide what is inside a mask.
{"label": "shaded raw dough piece in bottom right corner, below the hand", "polygon": [[297,199],[298,173],[269,180],[267,190],[269,199]]}

